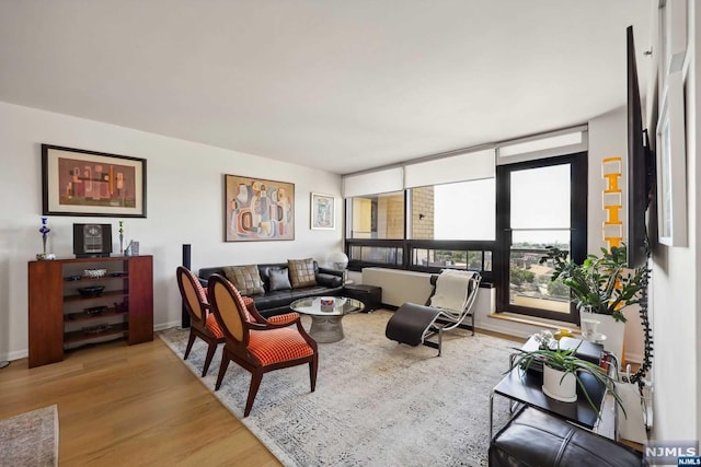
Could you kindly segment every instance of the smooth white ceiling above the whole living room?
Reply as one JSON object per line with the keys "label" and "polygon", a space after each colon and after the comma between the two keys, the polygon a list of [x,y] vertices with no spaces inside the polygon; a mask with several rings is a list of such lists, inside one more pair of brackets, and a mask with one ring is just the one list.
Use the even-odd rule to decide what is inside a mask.
{"label": "smooth white ceiling above the whole living room", "polygon": [[335,173],[585,122],[645,90],[643,0],[2,0],[0,101]]}

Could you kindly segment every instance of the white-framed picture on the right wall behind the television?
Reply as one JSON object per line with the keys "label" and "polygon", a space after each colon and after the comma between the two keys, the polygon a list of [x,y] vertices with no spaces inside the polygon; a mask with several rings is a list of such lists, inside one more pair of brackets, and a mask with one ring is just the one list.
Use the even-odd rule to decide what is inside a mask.
{"label": "white-framed picture on the right wall behind the television", "polygon": [[687,156],[683,78],[667,75],[657,124],[657,236],[669,246],[687,246]]}

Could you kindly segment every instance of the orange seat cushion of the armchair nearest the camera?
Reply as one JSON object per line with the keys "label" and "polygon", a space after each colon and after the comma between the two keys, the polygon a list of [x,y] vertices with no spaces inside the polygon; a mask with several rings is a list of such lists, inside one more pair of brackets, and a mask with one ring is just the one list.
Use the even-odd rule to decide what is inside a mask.
{"label": "orange seat cushion of the armchair nearest the camera", "polygon": [[249,337],[249,351],[263,366],[301,359],[314,353],[296,328],[252,330]]}

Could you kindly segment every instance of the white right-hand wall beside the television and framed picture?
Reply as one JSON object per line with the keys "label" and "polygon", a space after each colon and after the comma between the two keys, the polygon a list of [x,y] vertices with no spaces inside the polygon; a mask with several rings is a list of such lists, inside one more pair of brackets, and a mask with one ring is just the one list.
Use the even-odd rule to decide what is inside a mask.
{"label": "white right-hand wall beside the television and framed picture", "polygon": [[[683,1],[683,0],[682,0]],[[669,3],[668,3],[669,4]],[[688,4],[688,44],[685,68],[687,137],[688,247],[656,245],[653,250],[654,412],[651,439],[699,440],[701,436],[701,250],[698,212],[701,183],[701,49],[697,47],[701,8]],[[683,154],[673,154],[681,157]]]}

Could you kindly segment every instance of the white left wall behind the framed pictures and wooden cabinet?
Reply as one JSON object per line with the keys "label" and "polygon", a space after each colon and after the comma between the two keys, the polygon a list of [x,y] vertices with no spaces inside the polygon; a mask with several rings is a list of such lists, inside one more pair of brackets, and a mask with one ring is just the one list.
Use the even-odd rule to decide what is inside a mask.
{"label": "white left wall behind the framed pictures and wooden cabinet", "polygon": [[[42,250],[41,144],[94,150],[147,160],[148,218],[124,219],[125,237],[153,255],[154,325],[180,324],[175,268],[182,244],[192,244],[193,269],[205,266],[285,261],[322,262],[342,246],[342,229],[310,230],[310,192],[337,197],[341,177],[327,172],[176,140],[114,125],[0,103],[0,360],[27,354],[27,261]],[[295,241],[223,242],[223,174],[295,184]],[[112,223],[116,218],[49,217],[49,250],[72,257],[74,222]]]}

